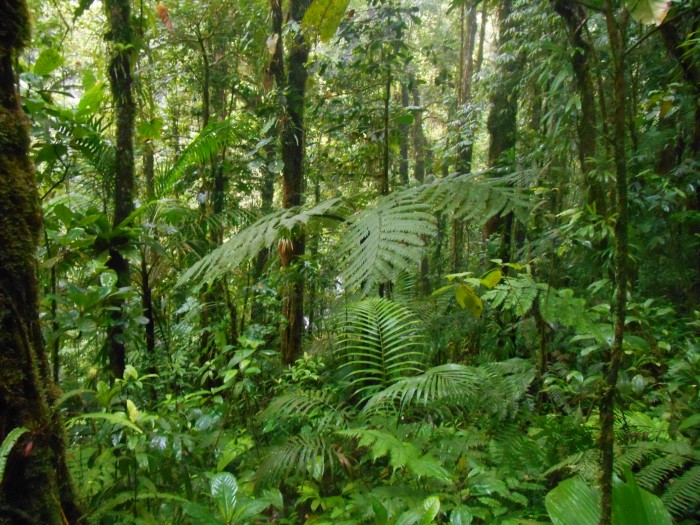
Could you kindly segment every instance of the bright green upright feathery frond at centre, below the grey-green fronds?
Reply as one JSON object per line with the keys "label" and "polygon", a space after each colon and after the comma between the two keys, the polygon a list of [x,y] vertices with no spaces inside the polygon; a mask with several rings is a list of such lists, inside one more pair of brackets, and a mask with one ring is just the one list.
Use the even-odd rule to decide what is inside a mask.
{"label": "bright green upright feathery frond at centre, below the grey-green fronds", "polygon": [[356,393],[367,397],[421,371],[425,341],[410,310],[372,298],[351,305],[343,317],[338,348]]}

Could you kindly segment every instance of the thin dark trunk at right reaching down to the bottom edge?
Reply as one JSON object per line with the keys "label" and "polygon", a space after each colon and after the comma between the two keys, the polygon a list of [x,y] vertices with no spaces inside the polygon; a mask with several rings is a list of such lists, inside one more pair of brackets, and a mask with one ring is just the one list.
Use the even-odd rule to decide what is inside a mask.
{"label": "thin dark trunk at right reaching down to the bottom edge", "polygon": [[615,336],[612,348],[604,353],[605,380],[600,398],[600,525],[612,523],[612,477],[615,446],[615,391],[622,360],[622,342],[627,309],[627,161],[625,152],[625,49],[624,28],[627,11],[618,23],[612,0],[605,2],[610,51],[614,70],[613,129],[615,155],[615,189],[617,220],[615,221]]}

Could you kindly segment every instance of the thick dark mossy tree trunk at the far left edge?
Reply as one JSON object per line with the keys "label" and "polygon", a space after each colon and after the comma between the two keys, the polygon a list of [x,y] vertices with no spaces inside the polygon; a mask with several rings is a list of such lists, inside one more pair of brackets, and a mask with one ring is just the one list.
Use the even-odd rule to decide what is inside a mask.
{"label": "thick dark mossy tree trunk at the far left edge", "polygon": [[27,122],[15,90],[13,55],[29,38],[24,0],[0,17],[0,442],[28,429],[8,458],[0,523],[77,523],[61,418],[39,326],[35,253],[41,208],[28,157]]}

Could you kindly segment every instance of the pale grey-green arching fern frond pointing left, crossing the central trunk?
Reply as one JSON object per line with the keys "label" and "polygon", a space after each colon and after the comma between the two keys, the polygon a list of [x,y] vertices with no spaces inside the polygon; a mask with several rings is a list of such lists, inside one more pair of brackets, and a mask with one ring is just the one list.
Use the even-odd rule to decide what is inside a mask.
{"label": "pale grey-green arching fern frond pointing left, crossing the central trunk", "polygon": [[344,201],[330,199],[312,207],[299,206],[266,215],[191,266],[177,285],[190,280],[211,282],[276,244],[280,238],[291,237],[292,231],[305,228],[312,221],[342,220],[346,210]]}

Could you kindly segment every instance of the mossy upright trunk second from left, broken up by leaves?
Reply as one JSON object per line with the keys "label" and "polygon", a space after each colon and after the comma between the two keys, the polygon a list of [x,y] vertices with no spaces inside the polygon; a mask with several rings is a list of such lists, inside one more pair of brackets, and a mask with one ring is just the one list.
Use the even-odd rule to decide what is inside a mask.
{"label": "mossy upright trunk second from left, broken up by leaves", "polygon": [[[129,0],[105,0],[113,54],[109,63],[109,81],[117,121],[117,143],[114,172],[114,216],[112,228],[117,228],[134,210],[134,104],[131,53],[132,29]],[[115,238],[109,249],[107,266],[117,274],[119,288],[131,285],[129,261],[120,251],[127,239]],[[121,378],[126,367],[124,343],[123,299],[113,304],[112,324],[107,333],[109,345],[109,368],[112,379]]]}

